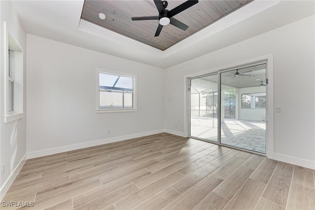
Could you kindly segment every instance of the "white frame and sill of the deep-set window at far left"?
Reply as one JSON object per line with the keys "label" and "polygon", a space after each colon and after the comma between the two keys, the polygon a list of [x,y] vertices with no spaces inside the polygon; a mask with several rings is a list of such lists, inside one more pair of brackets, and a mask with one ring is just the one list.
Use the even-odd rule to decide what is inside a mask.
{"label": "white frame and sill of the deep-set window at far left", "polygon": [[[6,22],[3,24],[4,37],[4,123],[12,122],[24,117],[23,112],[23,48],[21,44],[15,39],[7,30]],[[9,65],[9,51],[10,49],[14,55],[11,57]],[[10,67],[10,76],[9,76]],[[13,82],[13,110],[9,108],[9,81]]]}

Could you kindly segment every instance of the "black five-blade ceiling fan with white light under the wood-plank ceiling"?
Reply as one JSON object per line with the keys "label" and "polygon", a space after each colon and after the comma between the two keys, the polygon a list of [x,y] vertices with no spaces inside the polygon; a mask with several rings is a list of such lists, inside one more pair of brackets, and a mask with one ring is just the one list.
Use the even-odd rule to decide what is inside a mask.
{"label": "black five-blade ceiling fan with white light under the wood-plank ceiling", "polygon": [[171,9],[167,10],[165,9],[168,5],[166,0],[154,0],[154,3],[157,6],[158,9],[158,16],[144,16],[144,17],[132,17],[131,20],[158,20],[158,29],[154,36],[158,36],[163,26],[166,26],[168,24],[171,24],[173,26],[176,26],[177,28],[186,31],[188,29],[188,26],[184,23],[180,22],[179,20],[176,20],[173,18],[173,16],[177,15],[178,13],[184,11],[185,9],[188,9],[190,6],[198,3],[198,0],[188,0],[182,3],[181,5]]}

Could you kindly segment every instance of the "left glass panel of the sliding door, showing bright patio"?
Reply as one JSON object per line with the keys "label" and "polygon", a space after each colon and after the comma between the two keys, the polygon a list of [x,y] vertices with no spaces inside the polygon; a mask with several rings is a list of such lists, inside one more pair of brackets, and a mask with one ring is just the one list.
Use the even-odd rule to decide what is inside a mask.
{"label": "left glass panel of the sliding door, showing bright patio", "polygon": [[218,74],[190,79],[190,136],[218,142]]}

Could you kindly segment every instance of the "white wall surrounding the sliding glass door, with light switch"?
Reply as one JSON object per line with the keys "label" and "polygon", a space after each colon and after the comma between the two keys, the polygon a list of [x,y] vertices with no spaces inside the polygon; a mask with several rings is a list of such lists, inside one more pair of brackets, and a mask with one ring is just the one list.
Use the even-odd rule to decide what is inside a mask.
{"label": "white wall surrounding the sliding glass door, with light switch", "polygon": [[[315,169],[315,16],[168,68],[165,128],[184,132],[184,77],[273,53],[275,158]],[[241,49],[241,50],[240,50]],[[175,127],[177,125],[177,127]]]}

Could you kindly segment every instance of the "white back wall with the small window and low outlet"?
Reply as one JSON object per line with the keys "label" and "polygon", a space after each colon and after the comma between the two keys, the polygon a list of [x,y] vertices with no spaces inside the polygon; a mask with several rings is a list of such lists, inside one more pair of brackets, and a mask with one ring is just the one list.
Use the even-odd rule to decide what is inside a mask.
{"label": "white back wall with the small window and low outlet", "polygon": [[[28,158],[163,130],[164,70],[34,35],[27,47]],[[96,68],[137,75],[137,112],[95,113]]]}

